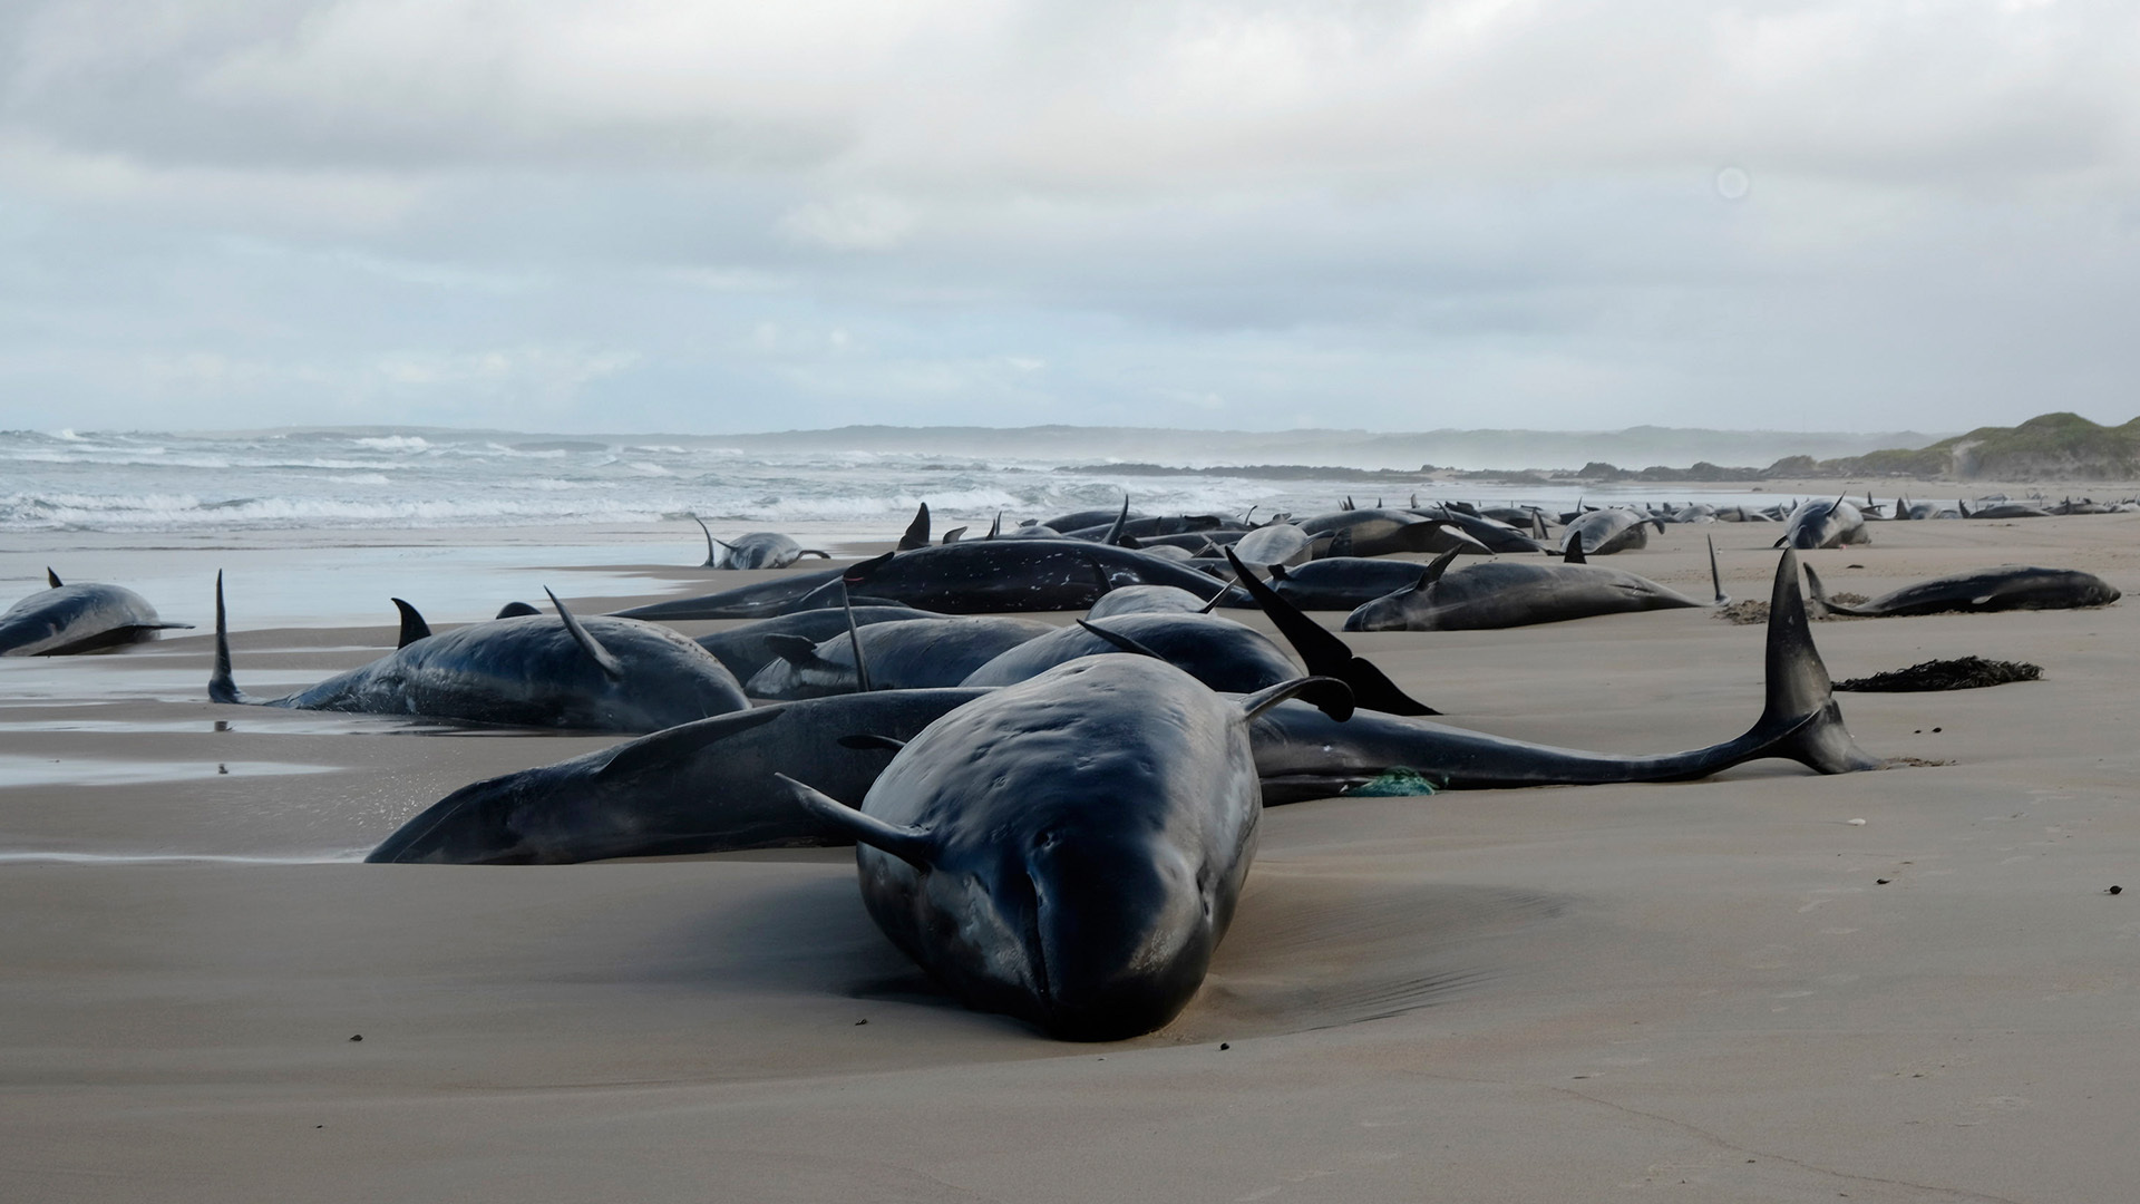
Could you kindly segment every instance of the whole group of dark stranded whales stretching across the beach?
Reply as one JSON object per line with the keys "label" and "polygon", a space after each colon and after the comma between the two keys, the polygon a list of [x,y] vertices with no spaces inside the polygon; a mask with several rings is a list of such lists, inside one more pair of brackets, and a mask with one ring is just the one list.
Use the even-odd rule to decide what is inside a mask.
{"label": "whole group of dark stranded whales stretching across the beach", "polygon": [[[1143,521],[1136,536],[1124,508],[1087,525],[1098,536],[1006,536],[997,525],[995,538],[931,544],[920,514],[920,538],[910,529],[903,551],[621,615],[578,617],[552,596],[556,615],[516,604],[434,634],[396,600],[396,651],[265,705],[648,733],[464,786],[368,859],[556,863],[852,842],[865,904],[895,945],[965,1003],[1068,1039],[1147,1033],[1188,1003],[1233,915],[1265,806],[1684,780],[1766,756],[1821,773],[1877,765],[1843,726],[1789,548],[1770,598],[1759,720],[1716,746],[1618,756],[1430,722],[1432,707],[1303,611],[1348,608],[1348,630],[1432,630],[1703,602],[1581,563],[1581,540],[1560,563],[1453,570],[1483,527],[1340,514],[1357,518],[1288,527],[1355,553],[1391,542],[1421,551],[1412,544],[1427,538],[1449,546],[1427,566],[1361,555],[1273,563],[1265,583],[1239,555],[1263,525],[1213,557],[1222,581],[1188,563],[1196,557],[1130,544],[1211,542],[1211,531],[1230,533],[1224,521]],[[749,538],[728,546],[773,548],[775,559],[790,551]],[[1714,574],[1714,546],[1710,555]],[[1380,572],[1391,576],[1376,581]],[[2089,574],[2003,568],[1840,606],[1804,576],[1815,608],[1866,615],[2116,598]],[[1363,583],[1376,593],[1355,602],[1346,591]],[[1213,613],[1228,604],[1260,606],[1305,673],[1258,630]],[[1070,628],[1017,617],[1036,611],[1085,617]],[[651,621],[663,617],[758,621],[691,641]],[[0,617],[9,638],[43,632],[21,647],[45,653],[163,626],[139,596],[56,576]],[[253,703],[231,675],[220,578],[210,696]]]}

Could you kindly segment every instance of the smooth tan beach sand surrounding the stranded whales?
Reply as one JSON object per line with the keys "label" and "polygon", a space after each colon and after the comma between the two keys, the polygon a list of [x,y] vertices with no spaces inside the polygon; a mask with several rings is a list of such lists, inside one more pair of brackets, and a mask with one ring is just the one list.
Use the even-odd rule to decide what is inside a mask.
{"label": "smooth tan beach sand surrounding the stranded whales", "polygon": [[[1699,591],[1710,533],[1766,596],[1778,527],[1611,563]],[[1860,593],[2001,561],[2134,589],[2140,516],[1806,559]],[[2129,1200],[2134,615],[1817,626],[1836,677],[2044,666],[1843,698],[1930,767],[1271,810],[1203,994],[1115,1045],[935,994],[845,851],[349,863],[601,739],[216,707],[201,634],[0,662],[0,1200]],[[246,630],[238,679],[389,643]],[[1761,630],[1701,611],[1357,649],[1575,748],[1708,743],[1761,698]]]}

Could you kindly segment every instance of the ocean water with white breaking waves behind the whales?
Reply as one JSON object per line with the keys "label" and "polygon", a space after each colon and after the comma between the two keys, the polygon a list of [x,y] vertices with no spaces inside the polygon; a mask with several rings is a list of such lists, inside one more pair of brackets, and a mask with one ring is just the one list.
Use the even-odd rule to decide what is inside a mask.
{"label": "ocean water with white breaking waves behind the whales", "polygon": [[[685,523],[880,536],[929,501],[937,529],[1117,506],[1143,512],[1329,510],[1352,495],[1575,501],[1577,486],[1117,476],[1089,456],[974,458],[903,450],[762,452],[717,439],[441,431],[253,435],[0,431],[0,533],[443,531]],[[1590,488],[1691,497],[1693,486]],[[1716,495],[1759,501],[1766,495]]]}

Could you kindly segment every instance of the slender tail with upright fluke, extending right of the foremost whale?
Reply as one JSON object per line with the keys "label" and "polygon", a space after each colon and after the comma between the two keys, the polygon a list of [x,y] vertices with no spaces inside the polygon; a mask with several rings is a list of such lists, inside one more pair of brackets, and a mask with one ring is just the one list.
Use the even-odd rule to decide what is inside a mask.
{"label": "slender tail with upright fluke, extending right of the foremost whale", "polygon": [[1252,724],[1256,771],[1269,803],[1320,799],[1412,769],[1440,788],[1592,786],[1603,782],[1680,782],[1708,778],[1766,756],[1798,761],[1819,773],[1877,769],[1836,707],[1828,666],[1813,647],[1798,555],[1783,553],[1770,591],[1766,707],[1740,737],[1688,752],[1624,756],[1577,752],[1449,728],[1427,720],[1359,711],[1346,724],[1280,705]]}

